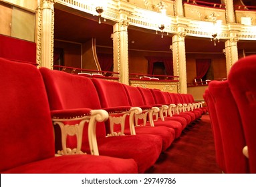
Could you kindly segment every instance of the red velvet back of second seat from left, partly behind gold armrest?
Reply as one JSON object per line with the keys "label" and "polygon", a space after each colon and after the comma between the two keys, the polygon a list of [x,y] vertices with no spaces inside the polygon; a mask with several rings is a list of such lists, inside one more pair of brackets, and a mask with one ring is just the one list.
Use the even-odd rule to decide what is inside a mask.
{"label": "red velvet back of second seat from left, partly behind gold armrest", "polygon": [[[91,79],[88,77],[73,75],[63,71],[50,70],[41,67],[41,74],[45,82],[49,105],[51,110],[66,110],[75,108],[101,109],[98,93]],[[72,123],[72,122],[69,122]],[[77,122],[73,122],[77,123]],[[61,140],[58,126],[54,126],[57,140]],[[84,127],[83,144],[88,146],[88,124]],[[106,129],[104,123],[98,123],[96,136],[104,138]],[[76,147],[76,136],[69,136],[67,145],[70,148]],[[56,150],[61,150],[61,142],[55,141]]]}

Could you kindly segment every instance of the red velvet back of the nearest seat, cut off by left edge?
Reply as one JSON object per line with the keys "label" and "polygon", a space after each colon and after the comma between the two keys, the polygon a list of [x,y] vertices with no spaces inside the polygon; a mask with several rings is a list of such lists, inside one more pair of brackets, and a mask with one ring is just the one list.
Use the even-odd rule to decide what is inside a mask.
{"label": "red velvet back of the nearest seat, cut off by left edge", "polygon": [[49,104],[34,65],[0,58],[0,172],[54,156]]}

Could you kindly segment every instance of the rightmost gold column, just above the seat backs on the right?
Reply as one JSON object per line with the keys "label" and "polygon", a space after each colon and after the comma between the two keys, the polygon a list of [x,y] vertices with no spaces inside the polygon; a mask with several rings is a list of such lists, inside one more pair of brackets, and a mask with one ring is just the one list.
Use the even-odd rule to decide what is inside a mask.
{"label": "rightmost gold column, just above the seat backs on the right", "polygon": [[231,37],[231,39],[225,41],[227,75],[229,75],[232,65],[238,60],[237,41],[238,37]]}

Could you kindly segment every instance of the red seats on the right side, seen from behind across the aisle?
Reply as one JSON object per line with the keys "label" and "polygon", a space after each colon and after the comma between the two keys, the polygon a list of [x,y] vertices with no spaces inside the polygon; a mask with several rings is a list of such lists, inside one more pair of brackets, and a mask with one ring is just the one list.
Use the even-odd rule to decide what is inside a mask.
{"label": "red seats on the right side, seen from behind across the aisle", "polygon": [[225,173],[256,173],[256,55],[239,59],[227,81],[211,81],[204,93]]}

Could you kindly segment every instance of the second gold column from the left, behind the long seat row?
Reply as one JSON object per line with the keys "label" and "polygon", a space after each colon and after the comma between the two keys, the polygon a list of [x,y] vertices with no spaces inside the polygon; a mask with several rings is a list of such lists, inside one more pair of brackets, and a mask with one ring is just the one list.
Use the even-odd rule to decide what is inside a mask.
{"label": "second gold column from the left, behind the long seat row", "polygon": [[114,71],[119,74],[119,82],[129,85],[128,63],[128,21],[120,21],[113,27]]}

